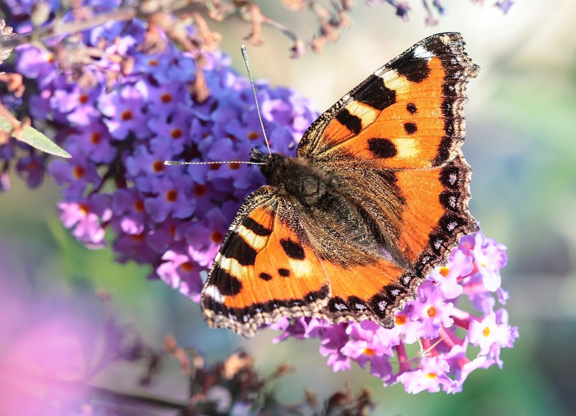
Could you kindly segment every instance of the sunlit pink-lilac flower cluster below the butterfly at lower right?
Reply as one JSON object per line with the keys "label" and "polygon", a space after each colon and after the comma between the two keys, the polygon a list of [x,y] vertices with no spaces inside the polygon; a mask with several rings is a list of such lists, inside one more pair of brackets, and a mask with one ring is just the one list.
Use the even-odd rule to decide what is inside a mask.
{"label": "sunlit pink-lilac flower cluster below the butterfly at lower right", "polygon": [[[437,267],[419,287],[418,297],[396,313],[391,329],[370,320],[332,325],[323,319],[283,318],[270,326],[283,331],[275,342],[320,338],[320,354],[334,371],[350,369],[351,361],[362,368],[370,363],[370,374],[385,386],[400,382],[409,393],[460,392],[476,368],[502,368],[501,348],[511,348],[518,337],[506,310],[494,310],[493,293],[501,304],[508,299],[500,287],[505,250],[481,231],[461,238],[448,263]],[[465,296],[475,313],[458,308]],[[458,329],[465,330],[464,337]],[[410,357],[406,346],[416,343],[417,350],[408,348],[414,350]]]}

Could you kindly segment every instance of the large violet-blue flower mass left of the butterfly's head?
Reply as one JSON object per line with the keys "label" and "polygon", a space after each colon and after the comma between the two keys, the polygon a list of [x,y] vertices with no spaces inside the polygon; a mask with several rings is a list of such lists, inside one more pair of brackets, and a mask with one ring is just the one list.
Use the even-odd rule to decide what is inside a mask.
{"label": "large violet-blue flower mass left of the butterfly's head", "polygon": [[[266,146],[251,87],[228,56],[182,52],[168,39],[164,51],[147,54],[145,33],[138,20],[84,32],[84,45],[103,54],[82,68],[82,83],[34,45],[16,49],[16,67],[36,82],[35,121],[54,125],[72,155],[48,167],[62,186],[65,227],[91,248],[104,247],[112,230],[119,261],[150,264],[151,277],[198,300],[200,276],[264,178],[254,165],[164,161],[247,161],[252,148]],[[203,100],[195,94],[199,76],[209,91]],[[272,151],[293,155],[316,111],[289,88],[258,81],[256,89]]]}

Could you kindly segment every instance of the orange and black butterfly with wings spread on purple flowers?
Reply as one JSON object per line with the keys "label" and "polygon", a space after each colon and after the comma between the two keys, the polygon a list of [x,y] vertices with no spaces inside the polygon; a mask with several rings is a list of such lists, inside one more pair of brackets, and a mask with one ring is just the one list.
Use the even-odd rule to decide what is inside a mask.
{"label": "orange and black butterfly with wings spread on purple flowers", "polygon": [[254,149],[267,185],[246,197],[204,284],[211,327],[252,337],[283,316],[395,312],[478,230],[461,146],[479,67],[460,33],[416,43],[324,112],[296,157]]}

